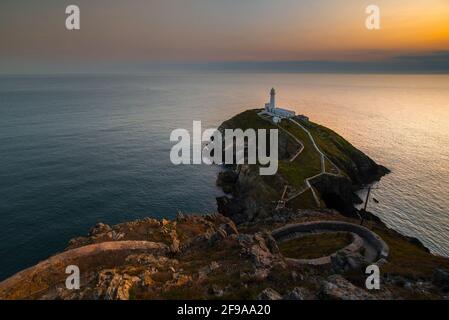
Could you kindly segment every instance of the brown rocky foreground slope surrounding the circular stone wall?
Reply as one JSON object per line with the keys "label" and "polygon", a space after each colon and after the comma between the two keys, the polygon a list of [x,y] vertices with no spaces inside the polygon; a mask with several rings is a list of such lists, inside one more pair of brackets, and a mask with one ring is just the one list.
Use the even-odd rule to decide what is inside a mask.
{"label": "brown rocky foreground slope surrounding the circular stone wall", "polygon": [[[98,224],[67,251],[0,283],[2,299],[435,299],[448,298],[448,259],[435,257],[405,237],[371,222],[392,251],[382,266],[381,289],[366,290],[364,265],[341,268],[291,264],[270,234],[286,223],[355,222],[335,211],[289,210],[236,226],[222,215],[174,221],[143,219]],[[135,249],[132,243],[152,245]],[[124,243],[127,243],[124,245]],[[121,251],[79,249],[102,245]],[[349,261],[349,260],[348,260]],[[81,270],[81,288],[68,290],[67,264]],[[445,269],[446,268],[446,269]]]}

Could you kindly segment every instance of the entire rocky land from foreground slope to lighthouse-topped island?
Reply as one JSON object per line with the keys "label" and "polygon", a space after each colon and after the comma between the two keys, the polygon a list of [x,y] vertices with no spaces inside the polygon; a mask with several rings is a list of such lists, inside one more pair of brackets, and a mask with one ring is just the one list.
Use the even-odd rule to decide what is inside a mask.
{"label": "entire rocky land from foreground slope to lighthouse-topped island", "polygon": [[[276,110],[274,94],[219,130],[279,129],[275,175],[223,168],[216,214],[99,223],[1,282],[0,298],[448,298],[448,258],[354,207],[355,192],[389,170],[306,116]],[[82,270],[78,290],[65,286],[68,265]],[[368,265],[380,268],[379,289],[365,287]]]}

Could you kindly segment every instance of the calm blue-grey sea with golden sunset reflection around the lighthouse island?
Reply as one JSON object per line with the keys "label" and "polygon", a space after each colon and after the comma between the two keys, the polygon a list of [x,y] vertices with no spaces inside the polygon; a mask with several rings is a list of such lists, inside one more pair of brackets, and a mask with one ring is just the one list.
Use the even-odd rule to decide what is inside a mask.
{"label": "calm blue-grey sea with golden sunset reflection around the lighthouse island", "polygon": [[0,76],[0,279],[100,221],[214,212],[219,168],[171,164],[170,132],[217,127],[272,86],[391,169],[369,210],[449,256],[449,76]]}

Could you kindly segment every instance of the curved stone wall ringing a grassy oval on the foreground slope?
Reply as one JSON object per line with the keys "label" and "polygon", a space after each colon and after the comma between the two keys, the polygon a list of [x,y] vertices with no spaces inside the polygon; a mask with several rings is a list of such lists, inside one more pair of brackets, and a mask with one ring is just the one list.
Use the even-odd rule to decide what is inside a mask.
{"label": "curved stone wall ringing a grassy oval on the foreground slope", "polygon": [[332,256],[339,252],[357,253],[365,250],[365,258],[368,262],[379,263],[386,259],[389,254],[388,245],[376,233],[363,226],[340,222],[340,221],[318,221],[298,224],[289,224],[272,231],[276,241],[283,242],[310,234],[347,232],[352,236],[352,242],[348,246],[335,253],[316,259],[293,259],[286,258],[289,262],[296,264],[324,265],[331,263]]}

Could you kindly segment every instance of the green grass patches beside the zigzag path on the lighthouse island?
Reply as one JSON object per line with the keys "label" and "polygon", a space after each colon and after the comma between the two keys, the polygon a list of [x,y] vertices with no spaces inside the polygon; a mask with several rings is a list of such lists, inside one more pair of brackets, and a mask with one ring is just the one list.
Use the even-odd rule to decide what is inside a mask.
{"label": "green grass patches beside the zigzag path on the lighthouse island", "polygon": [[[260,110],[247,110],[242,112],[224,122],[223,128],[241,128],[242,130],[249,128],[276,129],[277,126],[273,123],[264,120],[257,115],[257,112],[259,111]],[[301,125],[310,131],[320,150],[342,170],[341,173],[343,175],[351,177],[355,182],[360,180],[357,173],[348,174],[348,172],[351,173],[354,167],[356,167],[356,164],[354,163],[356,160],[354,159],[365,157],[362,152],[354,148],[343,137],[326,127],[309,121],[296,121],[299,121]],[[300,191],[307,187],[305,181],[307,178],[321,173],[321,155],[315,149],[307,132],[297,124],[288,120],[283,120],[279,126],[295,136],[304,146],[302,153],[293,162],[280,160],[278,163],[278,175],[282,177],[285,183],[289,186]],[[280,134],[287,135],[286,133],[283,133],[282,130],[280,130]],[[291,137],[289,137],[289,139],[293,141]],[[338,169],[331,163],[331,161],[329,161],[329,159],[325,159],[326,172],[333,174],[339,173]],[[272,180],[275,181],[274,179]],[[259,194],[266,194],[266,198],[269,198],[271,201],[275,201],[280,196],[280,192],[276,192],[276,190],[282,190],[278,185],[272,183],[273,181],[263,179],[260,185],[265,185],[266,190],[259,192]],[[307,191],[304,195],[291,201],[289,207],[313,209],[316,208],[317,205],[311,192]]]}

